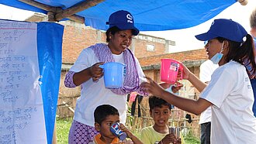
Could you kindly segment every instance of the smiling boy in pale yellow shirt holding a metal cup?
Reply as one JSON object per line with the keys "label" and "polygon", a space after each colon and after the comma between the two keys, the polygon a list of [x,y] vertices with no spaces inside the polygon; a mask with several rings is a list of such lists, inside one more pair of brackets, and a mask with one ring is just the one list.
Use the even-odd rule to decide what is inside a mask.
{"label": "smiling boy in pale yellow shirt holding a metal cup", "polygon": [[171,105],[154,96],[149,98],[149,105],[150,117],[153,118],[154,125],[142,129],[140,140],[145,144],[184,143],[183,139],[176,138],[169,132],[168,119],[171,116]]}

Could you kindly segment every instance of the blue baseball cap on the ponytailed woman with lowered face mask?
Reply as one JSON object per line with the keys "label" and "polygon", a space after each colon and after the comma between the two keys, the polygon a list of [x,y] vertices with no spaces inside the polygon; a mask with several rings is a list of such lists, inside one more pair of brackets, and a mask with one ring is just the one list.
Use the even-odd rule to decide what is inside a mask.
{"label": "blue baseball cap on the ponytailed woman with lowered face mask", "polygon": [[206,41],[216,37],[223,37],[241,43],[246,35],[247,32],[244,27],[232,19],[215,19],[207,33],[196,35],[195,38]]}

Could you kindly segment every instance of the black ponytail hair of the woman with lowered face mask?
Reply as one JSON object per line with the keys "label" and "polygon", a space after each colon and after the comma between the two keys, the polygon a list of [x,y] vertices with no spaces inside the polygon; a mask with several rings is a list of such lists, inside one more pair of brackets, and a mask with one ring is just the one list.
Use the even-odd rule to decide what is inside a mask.
{"label": "black ponytail hair of the woman with lowered face mask", "polygon": [[[254,59],[254,41],[251,35],[247,34],[246,40],[242,43],[234,42],[230,39],[225,39],[222,37],[217,37],[216,39],[223,43],[227,40],[229,43],[229,49],[227,56],[225,57],[225,62],[230,62],[230,60],[237,61],[243,64],[247,68],[247,74],[249,77],[255,77],[256,63]],[[248,68],[251,67],[251,68]]]}

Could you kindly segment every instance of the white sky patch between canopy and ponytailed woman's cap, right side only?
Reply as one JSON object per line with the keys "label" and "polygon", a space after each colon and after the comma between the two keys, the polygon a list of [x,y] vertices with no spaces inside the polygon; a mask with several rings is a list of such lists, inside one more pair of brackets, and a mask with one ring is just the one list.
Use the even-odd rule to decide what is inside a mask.
{"label": "white sky patch between canopy and ponytailed woman's cap, right side only", "polygon": [[[239,2],[236,2],[234,5],[231,5],[223,12],[220,12],[220,14],[216,15],[213,19],[233,19],[234,21],[239,22],[242,26],[244,26],[244,29],[247,30],[247,33],[250,33],[251,28],[249,18],[251,12],[254,9],[256,9],[256,0],[248,0],[247,5],[240,5]],[[169,40],[174,40],[176,46],[171,46],[172,53],[185,50],[195,50],[203,48],[203,42],[195,39],[195,35],[206,33],[209,30],[213,19],[209,19],[208,21],[200,24],[199,26],[194,26],[188,29],[142,33],[151,36],[163,37]]]}

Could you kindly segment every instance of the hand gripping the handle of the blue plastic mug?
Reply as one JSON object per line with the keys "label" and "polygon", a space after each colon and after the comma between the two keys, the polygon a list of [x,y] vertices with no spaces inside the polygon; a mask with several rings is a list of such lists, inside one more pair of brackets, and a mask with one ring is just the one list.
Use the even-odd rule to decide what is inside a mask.
{"label": "hand gripping the handle of the blue plastic mug", "polygon": [[104,62],[95,63],[90,67],[90,74],[92,76],[92,81],[99,81],[99,79],[103,76],[103,69],[99,67],[99,65],[102,65]]}

